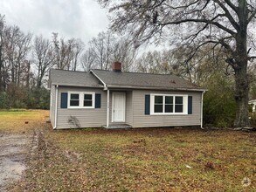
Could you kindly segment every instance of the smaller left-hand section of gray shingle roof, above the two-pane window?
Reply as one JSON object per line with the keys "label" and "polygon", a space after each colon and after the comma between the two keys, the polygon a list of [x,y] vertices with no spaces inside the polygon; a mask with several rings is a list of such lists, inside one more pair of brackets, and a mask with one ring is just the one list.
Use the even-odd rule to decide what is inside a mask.
{"label": "smaller left-hand section of gray shingle roof, above the two-pane window", "polygon": [[50,70],[50,83],[59,86],[100,87],[100,81],[90,72],[73,72],[59,69]]}

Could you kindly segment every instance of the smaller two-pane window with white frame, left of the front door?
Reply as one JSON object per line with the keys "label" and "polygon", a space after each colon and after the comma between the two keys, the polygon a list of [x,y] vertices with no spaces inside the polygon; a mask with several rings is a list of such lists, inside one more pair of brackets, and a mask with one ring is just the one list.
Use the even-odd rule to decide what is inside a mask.
{"label": "smaller two-pane window with white frame, left of the front door", "polygon": [[95,93],[68,93],[68,108],[94,108]]}

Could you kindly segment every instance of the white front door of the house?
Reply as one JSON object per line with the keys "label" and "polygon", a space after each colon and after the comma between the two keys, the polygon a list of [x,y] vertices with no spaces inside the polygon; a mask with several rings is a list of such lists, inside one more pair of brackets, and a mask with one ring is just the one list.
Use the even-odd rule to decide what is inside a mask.
{"label": "white front door of the house", "polygon": [[113,93],[112,121],[125,122],[125,93]]}

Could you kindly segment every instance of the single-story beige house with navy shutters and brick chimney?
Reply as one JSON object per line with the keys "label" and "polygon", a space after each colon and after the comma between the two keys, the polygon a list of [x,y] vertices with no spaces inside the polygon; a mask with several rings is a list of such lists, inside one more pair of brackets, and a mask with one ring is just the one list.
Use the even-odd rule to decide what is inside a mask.
{"label": "single-story beige house with navy shutters and brick chimney", "polygon": [[175,75],[51,69],[50,119],[74,127],[201,126],[204,89]]}

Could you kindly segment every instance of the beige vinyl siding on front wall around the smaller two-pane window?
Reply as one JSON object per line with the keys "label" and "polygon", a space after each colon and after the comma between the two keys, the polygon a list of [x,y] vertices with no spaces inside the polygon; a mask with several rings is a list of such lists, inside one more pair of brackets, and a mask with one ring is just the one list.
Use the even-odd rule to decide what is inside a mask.
{"label": "beige vinyl siding on front wall around the smaller two-pane window", "polygon": [[[93,92],[101,94],[100,108],[60,108],[61,93],[68,92]],[[97,88],[79,88],[79,87],[63,87],[59,86],[58,94],[58,120],[57,128],[75,127],[68,122],[70,116],[75,117],[80,127],[101,127],[106,125],[107,121],[107,92]]]}

